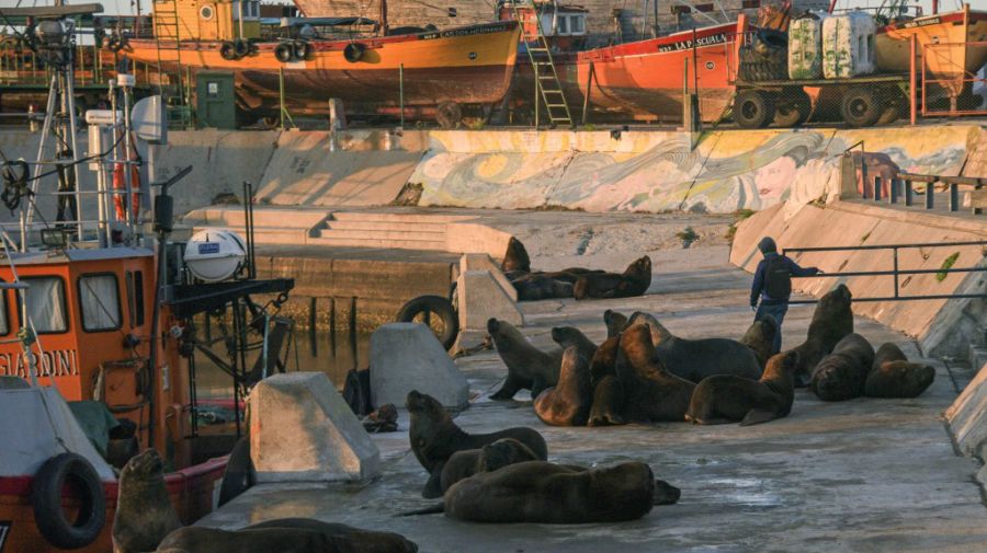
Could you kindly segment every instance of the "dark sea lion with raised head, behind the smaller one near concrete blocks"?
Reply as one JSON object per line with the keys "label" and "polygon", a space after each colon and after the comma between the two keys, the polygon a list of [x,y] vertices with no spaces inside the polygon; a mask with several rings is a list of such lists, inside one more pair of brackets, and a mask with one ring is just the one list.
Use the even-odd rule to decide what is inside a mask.
{"label": "dark sea lion with raised head, behind the smaller one near concrete blocks", "polygon": [[490,434],[466,434],[453,423],[452,417],[434,398],[417,390],[408,392],[406,407],[411,415],[411,426],[408,430],[411,451],[430,474],[426,484],[426,491],[429,493],[440,488],[442,465],[453,453],[465,449],[479,449],[501,438],[513,438],[527,446],[538,459],[548,459],[545,438],[532,428],[515,427]]}

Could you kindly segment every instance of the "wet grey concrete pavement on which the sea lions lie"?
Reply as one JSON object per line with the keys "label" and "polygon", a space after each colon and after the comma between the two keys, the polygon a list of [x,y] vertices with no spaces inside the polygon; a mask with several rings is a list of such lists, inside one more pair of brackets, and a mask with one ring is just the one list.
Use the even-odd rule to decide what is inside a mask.
{"label": "wet grey concrete pavement on which the sea lions lie", "polygon": [[[724,246],[666,252],[648,296],[622,300],[522,303],[538,346],[560,324],[605,335],[608,308],[655,313],[685,337],[740,336],[750,323],[749,275],[728,265]],[[804,339],[812,307],[793,307],[785,346]],[[872,343],[894,341],[917,356],[903,334],[859,318]],[[400,429],[373,438],[383,475],[362,485],[258,486],[198,525],[239,528],[303,516],[404,533],[423,552],[565,551],[987,551],[987,509],[972,481],[976,461],[956,456],[942,411],[969,371],[937,366],[932,387],[915,400],[824,403],[796,392],[790,417],[765,425],[695,427],[685,423],[616,428],[555,428],[519,394],[487,395],[504,376],[495,352],[458,359],[474,404],[456,422],[466,430],[526,425],[542,431],[553,461],[648,462],[657,477],[682,488],[679,504],[619,525],[475,525],[444,516],[396,518],[428,505],[427,474],[409,451],[407,413]]]}

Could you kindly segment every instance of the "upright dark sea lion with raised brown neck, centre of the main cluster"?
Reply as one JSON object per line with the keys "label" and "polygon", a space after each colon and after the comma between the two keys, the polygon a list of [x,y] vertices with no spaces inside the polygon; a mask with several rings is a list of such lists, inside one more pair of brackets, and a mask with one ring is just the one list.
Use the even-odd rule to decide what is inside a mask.
{"label": "upright dark sea lion with raised brown neck, centre of the main cluster", "polygon": [[624,390],[624,416],[634,422],[681,422],[695,384],[665,369],[655,356],[650,331],[635,324],[621,334],[616,376]]}

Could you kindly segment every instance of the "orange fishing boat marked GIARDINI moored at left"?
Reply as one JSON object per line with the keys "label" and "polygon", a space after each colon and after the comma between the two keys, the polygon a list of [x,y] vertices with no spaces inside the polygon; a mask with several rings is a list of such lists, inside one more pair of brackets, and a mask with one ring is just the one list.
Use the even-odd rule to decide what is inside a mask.
{"label": "orange fishing boat marked GIARDINI moored at left", "polygon": [[[0,223],[3,552],[110,553],[113,469],[148,448],[161,453],[182,521],[206,515],[240,435],[245,390],[284,366],[290,330],[274,311],[293,281],[252,278],[249,227],[246,244],[225,231],[169,240],[168,188],[191,168],[140,184],[144,163],[133,152],[138,140],[167,139],[161,99],[132,110],[134,78],[118,74],[111,110],[87,112],[90,153],[76,148],[72,16],[101,10],[0,9],[35,19],[22,39],[52,70],[37,160],[3,158],[0,168],[0,198],[19,216]],[[86,168],[97,172],[94,189],[81,189]],[[152,217],[151,187],[160,191]],[[251,196],[247,186],[245,194]],[[42,218],[55,205],[57,214]],[[145,223],[156,237],[145,235]],[[274,299],[258,307],[252,295]],[[223,313],[224,337],[211,342],[194,321],[214,313]],[[211,353],[213,343],[223,353]],[[197,398],[197,352],[232,377],[231,400]],[[257,358],[252,369],[248,355]],[[206,425],[207,411],[229,415]]]}

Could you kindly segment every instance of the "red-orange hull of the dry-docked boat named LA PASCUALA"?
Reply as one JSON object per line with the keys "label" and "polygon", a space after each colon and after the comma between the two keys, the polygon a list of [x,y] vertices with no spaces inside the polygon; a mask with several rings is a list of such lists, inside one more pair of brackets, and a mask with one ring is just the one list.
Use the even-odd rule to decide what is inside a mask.
{"label": "red-orange hull of the dry-docked boat named LA PASCUALA", "polygon": [[[736,30],[736,23],[696,30],[694,49],[693,34],[688,32],[557,55],[555,64],[574,115],[580,113],[589,90],[591,119],[678,123],[683,117],[688,84],[690,92],[699,91],[701,118],[712,122],[721,118],[733,99]],[[533,97],[527,59],[519,64],[519,83],[522,97]]]}

